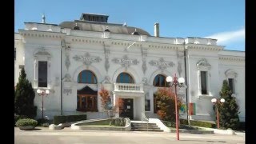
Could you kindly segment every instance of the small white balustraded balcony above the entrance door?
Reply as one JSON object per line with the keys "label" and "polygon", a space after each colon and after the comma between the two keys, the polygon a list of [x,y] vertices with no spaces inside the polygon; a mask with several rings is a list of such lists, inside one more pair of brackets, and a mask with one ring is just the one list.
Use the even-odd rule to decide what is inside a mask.
{"label": "small white balustraded balcony above the entrance door", "polygon": [[134,83],[114,83],[114,91],[116,92],[135,92],[143,93],[143,84]]}

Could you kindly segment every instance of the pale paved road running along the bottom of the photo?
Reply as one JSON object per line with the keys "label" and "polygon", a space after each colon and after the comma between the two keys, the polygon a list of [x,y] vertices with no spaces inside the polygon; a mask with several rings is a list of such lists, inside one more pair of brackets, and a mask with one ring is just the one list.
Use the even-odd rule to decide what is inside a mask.
{"label": "pale paved road running along the bottom of the photo", "polygon": [[19,130],[14,127],[15,144],[243,144],[244,136],[226,134],[180,134],[180,141],[175,133],[138,132],[138,131],[88,131],[88,130]]}

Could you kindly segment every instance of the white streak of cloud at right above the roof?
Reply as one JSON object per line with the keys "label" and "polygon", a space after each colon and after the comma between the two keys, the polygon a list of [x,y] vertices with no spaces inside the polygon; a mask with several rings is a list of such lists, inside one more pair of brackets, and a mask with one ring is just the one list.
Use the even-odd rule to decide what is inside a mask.
{"label": "white streak of cloud at right above the roof", "polygon": [[218,45],[228,45],[230,44],[230,42],[237,42],[245,39],[245,27],[243,26],[242,29],[239,30],[212,34],[210,36],[207,36],[206,38],[217,39]]}

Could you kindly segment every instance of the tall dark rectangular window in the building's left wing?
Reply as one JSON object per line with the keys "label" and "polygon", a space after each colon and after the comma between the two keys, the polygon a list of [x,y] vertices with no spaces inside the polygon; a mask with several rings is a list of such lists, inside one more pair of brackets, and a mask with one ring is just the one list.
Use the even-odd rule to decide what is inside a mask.
{"label": "tall dark rectangular window in the building's left wing", "polygon": [[38,62],[38,87],[47,87],[47,62]]}

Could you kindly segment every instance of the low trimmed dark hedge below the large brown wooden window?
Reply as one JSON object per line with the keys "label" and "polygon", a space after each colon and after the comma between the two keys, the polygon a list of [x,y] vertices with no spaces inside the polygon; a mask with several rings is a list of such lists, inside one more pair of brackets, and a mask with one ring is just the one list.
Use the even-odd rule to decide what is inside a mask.
{"label": "low trimmed dark hedge below the large brown wooden window", "polygon": [[66,122],[76,122],[86,120],[86,114],[80,115],[55,115],[54,116],[54,125]]}

